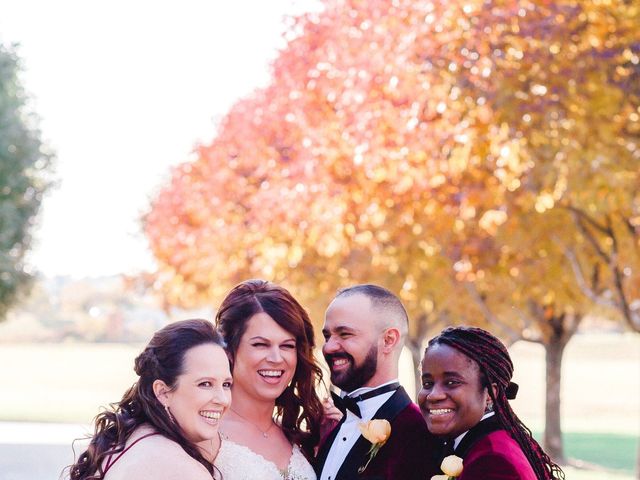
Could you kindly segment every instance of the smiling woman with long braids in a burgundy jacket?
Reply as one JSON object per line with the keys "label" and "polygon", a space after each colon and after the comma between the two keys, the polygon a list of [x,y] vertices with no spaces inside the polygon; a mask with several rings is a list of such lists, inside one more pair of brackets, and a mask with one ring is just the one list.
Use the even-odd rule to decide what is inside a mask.
{"label": "smiling woman with long braids in a burgundy jacket", "polygon": [[564,479],[511,409],[512,375],[507,348],[486,330],[449,327],[429,341],[418,403],[443,457],[463,459],[458,480]]}

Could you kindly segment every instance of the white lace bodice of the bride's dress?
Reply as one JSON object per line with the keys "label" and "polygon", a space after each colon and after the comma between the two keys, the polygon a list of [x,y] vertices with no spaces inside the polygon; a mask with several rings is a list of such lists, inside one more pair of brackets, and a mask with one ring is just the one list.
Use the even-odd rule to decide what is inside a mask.
{"label": "white lace bodice of the bride's dress", "polygon": [[313,468],[297,445],[293,446],[287,470],[282,471],[250,448],[223,437],[215,465],[224,480],[316,480]]}

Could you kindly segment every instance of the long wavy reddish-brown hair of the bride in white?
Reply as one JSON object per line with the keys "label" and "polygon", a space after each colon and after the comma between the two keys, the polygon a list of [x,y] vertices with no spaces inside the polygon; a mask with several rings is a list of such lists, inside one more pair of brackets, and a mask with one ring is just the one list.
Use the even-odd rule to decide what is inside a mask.
{"label": "long wavy reddish-brown hair of the bride in white", "polygon": [[304,308],[285,288],[265,280],[246,280],[234,287],[216,314],[216,325],[227,343],[233,361],[247,323],[257,313],[266,313],[296,339],[297,366],[291,384],[276,399],[287,439],[300,445],[308,458],[320,439],[322,404],[315,387],[322,370],[313,357],[313,326]]}

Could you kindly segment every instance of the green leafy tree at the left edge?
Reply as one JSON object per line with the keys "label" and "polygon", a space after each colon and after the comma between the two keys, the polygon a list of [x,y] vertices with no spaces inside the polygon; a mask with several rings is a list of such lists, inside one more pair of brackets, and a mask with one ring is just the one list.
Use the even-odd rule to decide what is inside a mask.
{"label": "green leafy tree at the left edge", "polygon": [[20,70],[15,47],[0,43],[0,320],[31,278],[24,258],[52,160]]}

